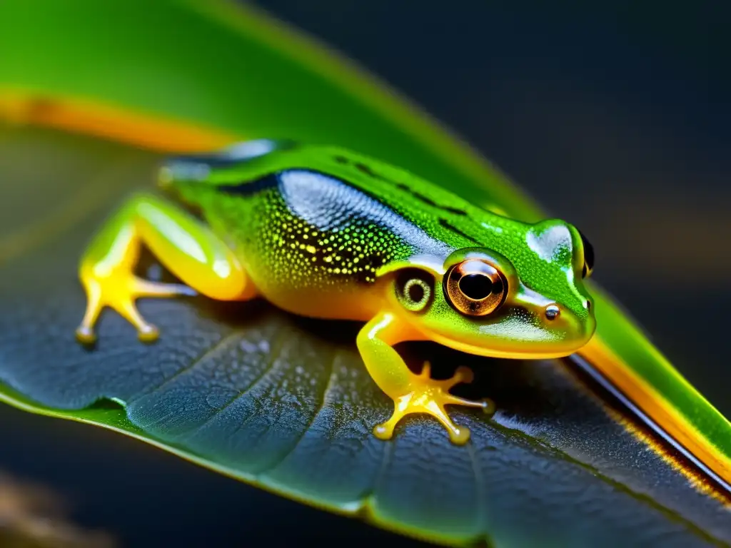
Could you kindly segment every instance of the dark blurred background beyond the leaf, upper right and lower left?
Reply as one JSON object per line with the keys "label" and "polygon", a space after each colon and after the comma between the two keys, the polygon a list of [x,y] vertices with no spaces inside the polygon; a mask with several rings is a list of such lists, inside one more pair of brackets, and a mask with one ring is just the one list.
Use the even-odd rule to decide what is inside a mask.
{"label": "dark blurred background beyond the leaf, upper right and lower left", "polygon": [[[632,9],[614,2],[257,4],[355,58],[471,142],[551,215],[577,224],[596,248],[596,280],[731,416],[726,13],[702,1]],[[124,546],[318,536],[417,545],[105,430],[7,406],[0,414],[20,440],[4,447],[1,465],[55,487],[77,521],[111,530]],[[42,436],[27,435],[38,425]],[[77,444],[86,447],[83,457],[72,452]],[[53,460],[26,457],[50,448]],[[124,511],[105,504],[110,497],[124,501]]]}

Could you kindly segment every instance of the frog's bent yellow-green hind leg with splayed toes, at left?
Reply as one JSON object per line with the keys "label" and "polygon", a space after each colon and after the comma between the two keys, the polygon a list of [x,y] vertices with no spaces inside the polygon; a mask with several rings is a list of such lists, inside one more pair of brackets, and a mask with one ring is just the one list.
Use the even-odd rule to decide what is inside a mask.
{"label": "frog's bent yellow-green hind leg with splayed toes, at left", "polygon": [[81,259],[79,277],[87,297],[86,313],[76,330],[81,342],[94,340],[94,324],[105,306],[134,325],[141,340],[154,340],[158,330],[143,319],[135,300],[190,293],[187,286],[135,276],[142,244],[197,292],[218,300],[254,297],[238,259],[211,229],[171,203],[140,195],[107,221]]}

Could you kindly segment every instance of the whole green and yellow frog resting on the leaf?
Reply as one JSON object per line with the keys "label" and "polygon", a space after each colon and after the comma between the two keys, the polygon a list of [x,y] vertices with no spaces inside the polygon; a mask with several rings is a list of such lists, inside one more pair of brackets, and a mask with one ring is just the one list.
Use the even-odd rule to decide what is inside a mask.
{"label": "whole green and yellow frog resting on the leaf", "polygon": [[[359,321],[357,351],[393,401],[376,438],[389,440],[417,414],[465,444],[469,428],[446,406],[495,411],[488,398],[452,394],[472,370],[432,378],[429,362],[414,372],[394,346],[428,340],[490,358],[566,357],[596,327],[583,283],[594,250],[566,221],[510,218],[448,185],[336,145],[260,139],[168,156],[159,188],[129,197],[86,248],[76,338],[94,343],[111,308],[153,342],[159,330],[137,300],[191,293]],[[143,246],[181,283],[137,275]]]}

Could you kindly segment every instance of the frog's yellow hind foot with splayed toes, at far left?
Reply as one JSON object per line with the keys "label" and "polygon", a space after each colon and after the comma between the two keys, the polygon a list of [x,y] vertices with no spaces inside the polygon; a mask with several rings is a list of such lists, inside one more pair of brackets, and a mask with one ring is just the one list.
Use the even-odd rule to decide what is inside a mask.
{"label": "frog's yellow hind foot with splayed toes, at far left", "polygon": [[148,324],[142,317],[135,301],[140,297],[175,297],[194,294],[188,286],[177,283],[159,283],[137,278],[132,273],[112,273],[105,276],[83,272],[81,281],[86,289],[86,313],[76,329],[76,338],[81,343],[96,340],[94,324],[105,306],[113,308],[137,329],[137,336],[144,342],[156,340],[157,327]]}

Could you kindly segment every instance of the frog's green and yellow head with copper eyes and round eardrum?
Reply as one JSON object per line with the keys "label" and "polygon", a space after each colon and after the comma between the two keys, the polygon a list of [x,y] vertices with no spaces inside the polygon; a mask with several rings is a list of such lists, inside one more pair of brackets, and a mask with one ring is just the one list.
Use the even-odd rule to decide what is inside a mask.
{"label": "frog's green and yellow head with copper eyes and round eardrum", "polygon": [[582,279],[594,251],[559,220],[514,224],[491,248],[462,248],[442,265],[415,257],[392,274],[391,302],[425,338],[492,357],[567,356],[594,333]]}

